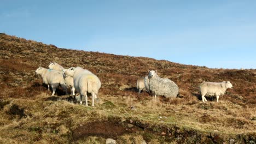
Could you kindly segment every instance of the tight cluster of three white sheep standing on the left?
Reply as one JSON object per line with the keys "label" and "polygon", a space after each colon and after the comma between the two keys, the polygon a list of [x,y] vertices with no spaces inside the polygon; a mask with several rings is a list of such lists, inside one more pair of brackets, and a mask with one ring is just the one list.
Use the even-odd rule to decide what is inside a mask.
{"label": "tight cluster of three white sheep standing on the left", "polygon": [[95,74],[80,67],[65,69],[55,62],[50,63],[48,68],[39,67],[36,70],[36,74],[42,76],[43,83],[48,85],[48,91],[50,91],[51,86],[53,89],[51,96],[55,94],[56,88],[59,86],[66,91],[66,95],[67,88],[71,88],[72,95],[75,95],[75,91],[79,92],[80,104],[83,103],[82,98],[85,97],[86,106],[88,106],[87,93],[91,93],[92,106],[94,106],[94,100],[97,98],[98,90],[101,88],[101,81]]}

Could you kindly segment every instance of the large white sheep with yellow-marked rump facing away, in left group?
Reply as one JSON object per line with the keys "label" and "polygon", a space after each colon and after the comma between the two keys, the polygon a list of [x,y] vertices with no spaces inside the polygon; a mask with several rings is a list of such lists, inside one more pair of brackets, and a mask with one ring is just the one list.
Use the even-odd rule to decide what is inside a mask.
{"label": "large white sheep with yellow-marked rump facing away, in left group", "polygon": [[92,95],[92,106],[94,99],[97,98],[98,90],[101,88],[101,81],[91,71],[77,67],[71,67],[65,71],[65,75],[72,76],[74,79],[74,87],[80,94],[80,104],[83,103],[82,98],[85,97],[85,105],[88,106],[87,93]]}

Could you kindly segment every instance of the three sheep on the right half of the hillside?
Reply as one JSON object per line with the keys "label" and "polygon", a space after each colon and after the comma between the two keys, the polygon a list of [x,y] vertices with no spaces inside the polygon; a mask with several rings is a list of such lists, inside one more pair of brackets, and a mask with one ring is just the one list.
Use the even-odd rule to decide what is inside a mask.
{"label": "three sheep on the right half of the hillside", "polygon": [[[140,77],[137,80],[138,93],[141,93],[142,89],[146,89],[150,94],[162,95],[165,98],[176,98],[179,93],[179,87],[173,81],[169,79],[163,79],[156,74],[157,71],[148,70],[148,76]],[[207,100],[205,95],[216,95],[217,103],[219,102],[219,96],[223,95],[228,88],[232,88],[230,81],[223,82],[202,82],[199,85],[202,101],[205,103]]]}

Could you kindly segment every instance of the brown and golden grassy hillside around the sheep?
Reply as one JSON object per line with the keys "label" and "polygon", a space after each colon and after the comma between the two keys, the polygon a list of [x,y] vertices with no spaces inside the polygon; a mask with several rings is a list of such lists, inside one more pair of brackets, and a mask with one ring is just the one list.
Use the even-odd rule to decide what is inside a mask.
{"label": "brown and golden grassy hillside around the sheep", "polygon": [[[95,107],[56,97],[35,70],[57,62],[80,66],[102,82]],[[136,80],[147,70],[176,82],[179,97],[138,95]],[[206,97],[203,81],[234,86],[223,97]],[[60,49],[0,34],[0,143],[238,143],[256,142],[256,70],[209,69],[152,58]]]}

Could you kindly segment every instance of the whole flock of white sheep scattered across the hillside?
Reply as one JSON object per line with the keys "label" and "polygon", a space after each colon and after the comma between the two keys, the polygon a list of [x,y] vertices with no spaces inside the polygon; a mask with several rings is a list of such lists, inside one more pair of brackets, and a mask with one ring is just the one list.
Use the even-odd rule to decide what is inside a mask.
{"label": "whole flock of white sheep scattered across the hillside", "polygon": [[[75,95],[75,91],[80,94],[80,104],[83,103],[82,99],[85,98],[85,105],[88,106],[88,93],[92,95],[92,106],[94,100],[97,98],[98,90],[101,88],[101,81],[91,71],[80,68],[71,67],[69,69],[63,68],[60,64],[51,62],[48,69],[39,67],[36,74],[40,74],[43,83],[48,85],[48,91],[53,89],[51,96],[55,94],[56,88],[61,86],[67,95],[67,88],[71,89],[71,94]],[[202,101],[205,103],[207,100],[205,95],[216,95],[217,102],[219,96],[223,95],[228,88],[232,88],[229,81],[223,82],[202,82],[199,86],[202,95]],[[148,70],[148,76],[141,77],[137,80],[138,93],[142,89],[156,95],[162,95],[165,98],[176,98],[179,93],[179,87],[169,79],[163,79],[157,75],[157,71]]]}

